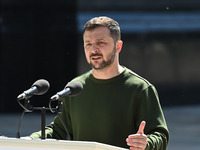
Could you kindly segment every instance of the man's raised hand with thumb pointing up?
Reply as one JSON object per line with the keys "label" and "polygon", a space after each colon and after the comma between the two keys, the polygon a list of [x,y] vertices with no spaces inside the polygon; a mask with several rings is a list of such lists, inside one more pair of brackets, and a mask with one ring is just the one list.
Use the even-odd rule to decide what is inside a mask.
{"label": "man's raised hand with thumb pointing up", "polygon": [[127,145],[131,150],[144,150],[147,145],[147,136],[144,134],[146,122],[142,121],[137,134],[131,134],[126,139]]}

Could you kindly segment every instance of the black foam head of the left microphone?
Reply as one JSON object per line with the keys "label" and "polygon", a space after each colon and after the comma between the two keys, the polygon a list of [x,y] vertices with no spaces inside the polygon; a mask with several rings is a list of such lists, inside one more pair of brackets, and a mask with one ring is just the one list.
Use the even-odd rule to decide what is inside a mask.
{"label": "black foam head of the left microphone", "polygon": [[35,95],[42,95],[46,93],[49,90],[49,82],[44,79],[37,80],[31,87],[36,86],[38,89],[38,92]]}

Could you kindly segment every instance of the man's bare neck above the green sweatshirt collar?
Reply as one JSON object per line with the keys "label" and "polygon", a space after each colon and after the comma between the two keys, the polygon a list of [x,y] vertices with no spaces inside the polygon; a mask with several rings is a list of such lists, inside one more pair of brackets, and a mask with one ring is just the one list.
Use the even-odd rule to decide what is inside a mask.
{"label": "man's bare neck above the green sweatshirt collar", "polygon": [[92,69],[92,74],[95,78],[97,79],[110,79],[113,78],[117,75],[119,75],[122,71],[124,70],[124,68],[120,65],[118,65],[117,67],[106,67],[100,70],[95,70]]}

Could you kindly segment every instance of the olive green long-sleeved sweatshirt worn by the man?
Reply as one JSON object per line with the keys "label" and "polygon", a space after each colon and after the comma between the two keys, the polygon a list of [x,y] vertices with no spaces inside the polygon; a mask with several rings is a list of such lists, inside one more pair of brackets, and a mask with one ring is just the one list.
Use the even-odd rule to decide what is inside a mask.
{"label": "olive green long-sleeved sweatshirt worn by the man", "polygon": [[[89,71],[74,80],[83,84],[83,91],[63,99],[61,117],[76,141],[95,141],[129,148],[126,138],[138,131],[146,121],[146,150],[165,150],[169,132],[155,87],[125,68],[111,79],[96,79]],[[31,135],[40,138],[41,133]],[[59,117],[46,127],[46,137],[66,139]]]}

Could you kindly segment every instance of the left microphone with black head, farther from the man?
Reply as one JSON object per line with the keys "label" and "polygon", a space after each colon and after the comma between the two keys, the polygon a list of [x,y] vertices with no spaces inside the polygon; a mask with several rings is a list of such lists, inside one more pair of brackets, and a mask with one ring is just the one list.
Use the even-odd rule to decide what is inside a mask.
{"label": "left microphone with black head, farther from the man", "polygon": [[24,98],[28,99],[33,95],[42,95],[48,91],[49,87],[50,85],[48,81],[44,79],[37,80],[35,83],[33,83],[30,89],[20,94],[17,99],[22,100]]}

